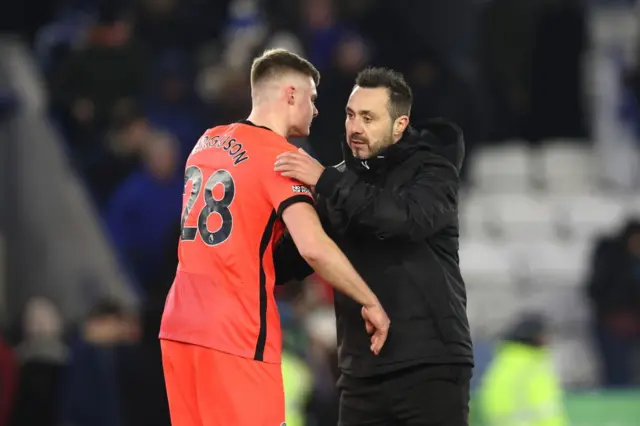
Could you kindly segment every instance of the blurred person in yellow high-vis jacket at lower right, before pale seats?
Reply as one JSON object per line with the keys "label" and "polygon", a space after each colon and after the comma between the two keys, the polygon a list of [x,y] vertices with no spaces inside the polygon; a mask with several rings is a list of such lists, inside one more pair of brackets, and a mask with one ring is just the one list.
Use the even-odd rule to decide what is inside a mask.
{"label": "blurred person in yellow high-vis jacket at lower right, before pale seats", "polygon": [[569,424],[547,344],[547,327],[538,315],[523,316],[509,330],[479,389],[486,426]]}

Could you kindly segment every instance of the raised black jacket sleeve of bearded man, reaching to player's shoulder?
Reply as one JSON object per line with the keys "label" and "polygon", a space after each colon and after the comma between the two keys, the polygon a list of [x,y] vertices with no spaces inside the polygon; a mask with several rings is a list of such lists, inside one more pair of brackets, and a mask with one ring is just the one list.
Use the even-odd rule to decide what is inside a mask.
{"label": "raised black jacket sleeve of bearded man, reaching to player's shoulder", "polygon": [[354,226],[378,239],[422,241],[451,223],[458,211],[458,173],[453,165],[425,161],[399,187],[378,187],[355,172],[327,168],[316,190],[339,232]]}

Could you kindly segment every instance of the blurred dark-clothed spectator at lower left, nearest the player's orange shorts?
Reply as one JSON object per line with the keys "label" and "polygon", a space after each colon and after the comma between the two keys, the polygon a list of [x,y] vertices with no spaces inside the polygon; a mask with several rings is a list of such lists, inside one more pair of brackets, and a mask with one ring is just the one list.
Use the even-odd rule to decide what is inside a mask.
{"label": "blurred dark-clothed spectator at lower left, nearest the player's orange shorts", "polygon": [[145,309],[139,321],[112,301],[94,306],[73,336],[60,389],[48,394],[50,403],[61,403],[56,425],[170,425],[157,340],[161,313]]}

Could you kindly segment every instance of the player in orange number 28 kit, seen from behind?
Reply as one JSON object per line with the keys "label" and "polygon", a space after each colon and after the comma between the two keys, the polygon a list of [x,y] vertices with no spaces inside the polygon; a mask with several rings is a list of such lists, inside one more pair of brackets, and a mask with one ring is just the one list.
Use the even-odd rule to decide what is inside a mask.
{"label": "player in orange number 28 kit, seen from behind", "polygon": [[285,225],[309,265],[363,305],[372,352],[386,340],[386,313],[322,230],[311,192],[273,170],[295,151],[286,138],[309,134],[318,80],[306,60],[267,51],[251,69],[248,120],[207,130],[187,160],[180,263],[160,329],[174,426],[284,424],[273,249]]}

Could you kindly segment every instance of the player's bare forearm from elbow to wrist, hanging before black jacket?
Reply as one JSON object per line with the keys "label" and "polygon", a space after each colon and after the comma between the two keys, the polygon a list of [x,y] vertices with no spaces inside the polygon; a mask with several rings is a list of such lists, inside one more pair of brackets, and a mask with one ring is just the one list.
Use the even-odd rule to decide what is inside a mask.
{"label": "player's bare forearm from elbow to wrist, hanging before black jacket", "polygon": [[318,275],[363,306],[378,304],[376,295],[330,238],[323,240],[317,253],[305,260]]}

